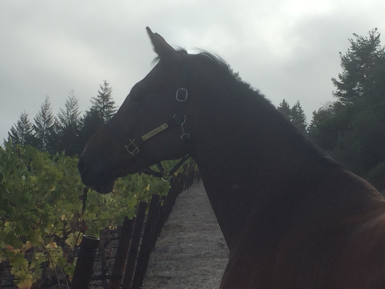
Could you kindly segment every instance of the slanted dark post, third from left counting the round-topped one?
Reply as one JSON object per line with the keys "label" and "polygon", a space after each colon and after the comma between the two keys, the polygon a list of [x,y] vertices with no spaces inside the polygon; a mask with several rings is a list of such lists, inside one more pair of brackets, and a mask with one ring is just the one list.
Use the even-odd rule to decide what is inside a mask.
{"label": "slanted dark post, third from left counting the round-topped one", "polygon": [[144,217],[146,216],[146,208],[146,202],[139,203],[138,211],[136,213],[134,232],[132,233],[131,245],[127,257],[126,272],[124,273],[122,289],[131,289],[132,276],[134,275],[136,256],[138,253],[139,242],[141,240]]}

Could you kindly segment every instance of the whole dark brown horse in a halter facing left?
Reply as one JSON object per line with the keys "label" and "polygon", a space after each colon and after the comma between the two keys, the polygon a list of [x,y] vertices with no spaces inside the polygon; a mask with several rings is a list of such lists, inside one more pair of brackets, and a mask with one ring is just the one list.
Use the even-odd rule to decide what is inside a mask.
{"label": "whole dark brown horse in a halter facing left", "polygon": [[156,65],[79,158],[85,185],[191,156],[229,248],[221,289],[385,288],[385,199],[208,52]]}

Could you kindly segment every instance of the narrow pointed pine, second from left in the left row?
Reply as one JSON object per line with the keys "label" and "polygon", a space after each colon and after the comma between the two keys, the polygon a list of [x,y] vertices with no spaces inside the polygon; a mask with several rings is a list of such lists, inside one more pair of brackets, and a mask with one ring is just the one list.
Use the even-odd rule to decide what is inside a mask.
{"label": "narrow pointed pine, second from left in the left row", "polygon": [[33,134],[36,139],[35,147],[39,150],[47,150],[50,135],[52,134],[52,124],[54,123],[54,116],[52,114],[49,96],[45,97],[45,101],[40,106],[40,111],[36,117],[33,118],[35,123],[33,126]]}

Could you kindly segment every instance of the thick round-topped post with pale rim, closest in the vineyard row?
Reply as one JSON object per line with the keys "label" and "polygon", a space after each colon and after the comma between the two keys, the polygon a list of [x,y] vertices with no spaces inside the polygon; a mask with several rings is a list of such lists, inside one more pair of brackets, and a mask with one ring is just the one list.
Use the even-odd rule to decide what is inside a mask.
{"label": "thick round-topped post with pale rim, closest in the vineyard row", "polygon": [[77,262],[74,277],[71,282],[71,289],[87,289],[94,267],[95,257],[98,251],[100,239],[97,237],[83,235],[79,245]]}

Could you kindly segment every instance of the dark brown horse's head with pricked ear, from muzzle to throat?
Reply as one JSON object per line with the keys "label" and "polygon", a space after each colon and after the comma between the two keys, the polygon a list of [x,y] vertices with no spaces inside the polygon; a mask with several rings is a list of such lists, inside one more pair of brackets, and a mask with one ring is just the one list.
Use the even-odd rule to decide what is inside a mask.
{"label": "dark brown horse's head with pricked ear, from muzzle to throat", "polygon": [[86,144],[79,158],[82,182],[109,193],[121,176],[189,153],[190,71],[185,50],[177,51],[147,27],[157,64],[132,87],[117,113]]}

